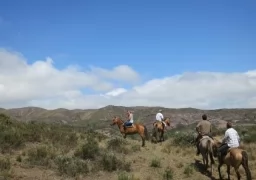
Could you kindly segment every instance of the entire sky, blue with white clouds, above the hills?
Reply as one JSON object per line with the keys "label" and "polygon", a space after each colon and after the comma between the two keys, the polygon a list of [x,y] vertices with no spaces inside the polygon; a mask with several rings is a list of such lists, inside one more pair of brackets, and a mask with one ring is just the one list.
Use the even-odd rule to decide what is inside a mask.
{"label": "entire sky, blue with white clouds, above the hills", "polygon": [[2,0],[0,107],[256,107],[256,1]]}

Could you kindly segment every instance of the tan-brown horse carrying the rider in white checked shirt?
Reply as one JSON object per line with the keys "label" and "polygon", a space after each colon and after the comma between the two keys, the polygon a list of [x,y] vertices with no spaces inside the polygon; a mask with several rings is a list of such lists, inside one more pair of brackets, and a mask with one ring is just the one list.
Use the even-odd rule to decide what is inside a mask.
{"label": "tan-brown horse carrying the rider in white checked shirt", "polygon": [[[217,148],[221,146],[221,142],[215,140],[215,147],[214,148],[214,157],[217,157]],[[251,180],[251,172],[248,166],[248,154],[245,150],[241,148],[230,148],[223,159],[219,159],[219,166],[218,166],[218,171],[219,171],[219,178],[222,179],[220,168],[223,164],[227,165],[227,174],[228,174],[228,179],[230,180],[230,167],[234,167],[237,179],[241,179],[241,175],[238,171],[240,165],[243,166],[247,180]]]}

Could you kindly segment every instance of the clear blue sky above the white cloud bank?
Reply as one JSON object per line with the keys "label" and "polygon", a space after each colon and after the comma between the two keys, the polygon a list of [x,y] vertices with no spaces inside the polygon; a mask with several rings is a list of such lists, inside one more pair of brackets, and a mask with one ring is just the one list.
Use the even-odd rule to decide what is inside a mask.
{"label": "clear blue sky above the white cloud bank", "polygon": [[58,68],[126,64],[152,78],[256,67],[253,0],[2,0],[0,17],[0,47]]}

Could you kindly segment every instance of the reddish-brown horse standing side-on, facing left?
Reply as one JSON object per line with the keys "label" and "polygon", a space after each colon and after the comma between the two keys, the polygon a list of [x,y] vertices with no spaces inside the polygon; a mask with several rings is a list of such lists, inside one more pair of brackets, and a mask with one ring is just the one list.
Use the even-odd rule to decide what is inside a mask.
{"label": "reddish-brown horse standing side-on, facing left", "polygon": [[145,140],[148,140],[148,130],[146,126],[140,123],[134,123],[132,126],[126,126],[124,128],[124,122],[117,116],[113,118],[111,125],[113,126],[115,124],[118,126],[124,138],[126,138],[126,135],[139,134],[142,139],[142,147],[145,146]]}

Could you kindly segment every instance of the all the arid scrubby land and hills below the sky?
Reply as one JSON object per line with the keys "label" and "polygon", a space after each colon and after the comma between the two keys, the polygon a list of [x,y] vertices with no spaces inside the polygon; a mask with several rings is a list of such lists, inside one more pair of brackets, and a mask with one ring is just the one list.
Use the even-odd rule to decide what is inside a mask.
{"label": "all the arid scrubby land and hills below the sky", "polygon": [[[6,179],[104,179],[182,180],[211,179],[196,156],[195,123],[206,113],[221,138],[226,120],[232,120],[249,154],[252,177],[256,172],[255,109],[163,109],[175,128],[168,129],[163,143],[146,141],[136,135],[123,139],[111,117],[131,109],[135,121],[147,124],[151,133],[155,113],[161,107],[107,106],[96,110],[45,110],[36,107],[2,109],[0,117],[1,176]],[[212,179],[218,179],[217,160]],[[241,167],[242,179],[245,179]],[[226,167],[222,167],[224,177]],[[231,170],[235,179],[234,170]]]}

